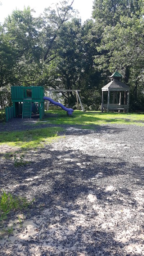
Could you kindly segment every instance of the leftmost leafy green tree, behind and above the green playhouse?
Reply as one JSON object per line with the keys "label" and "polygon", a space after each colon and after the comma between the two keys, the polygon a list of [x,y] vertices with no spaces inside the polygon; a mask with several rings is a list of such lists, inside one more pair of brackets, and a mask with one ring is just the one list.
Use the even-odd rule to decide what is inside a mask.
{"label": "leftmost leafy green tree, behind and above the green playhouse", "polygon": [[[1,27],[1,86],[36,80],[41,66],[39,30],[30,8],[15,10]],[[39,74],[39,72],[37,72]]]}

